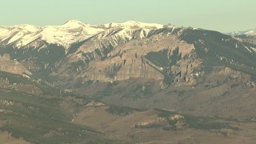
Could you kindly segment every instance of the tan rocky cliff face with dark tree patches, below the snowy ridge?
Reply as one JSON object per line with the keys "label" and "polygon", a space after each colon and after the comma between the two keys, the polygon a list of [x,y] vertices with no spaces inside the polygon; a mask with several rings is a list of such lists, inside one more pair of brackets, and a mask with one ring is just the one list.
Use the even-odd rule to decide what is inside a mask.
{"label": "tan rocky cliff face with dark tree patches, below the snowy ridge", "polygon": [[174,30],[151,30],[143,37],[136,37],[142,30],[130,30],[133,32],[129,38],[120,38],[118,31],[107,38],[90,38],[69,54],[67,62],[52,76],[68,78],[75,74],[83,82],[172,77],[168,81],[192,85],[195,80],[191,74],[202,60],[198,59],[194,46],[178,38]]}

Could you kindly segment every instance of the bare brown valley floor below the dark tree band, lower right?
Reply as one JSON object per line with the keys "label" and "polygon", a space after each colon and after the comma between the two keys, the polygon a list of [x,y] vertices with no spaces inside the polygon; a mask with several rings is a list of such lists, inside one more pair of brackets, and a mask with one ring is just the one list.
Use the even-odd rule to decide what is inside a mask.
{"label": "bare brown valley floor below the dark tree band, lower right", "polygon": [[[134,112],[126,116],[109,114],[106,113],[106,110],[107,106],[87,107],[77,114],[74,122],[102,131],[106,134],[107,138],[119,139],[131,143],[250,144],[256,141],[256,136],[254,135],[256,129],[255,122],[225,121],[229,122],[231,126],[236,126],[238,128],[237,130],[227,128],[217,130],[200,130],[194,128],[163,130],[161,126],[159,127],[161,119],[158,118],[155,110]],[[155,125],[150,125],[153,122],[155,122]],[[136,127],[138,124],[153,127],[138,128]]]}

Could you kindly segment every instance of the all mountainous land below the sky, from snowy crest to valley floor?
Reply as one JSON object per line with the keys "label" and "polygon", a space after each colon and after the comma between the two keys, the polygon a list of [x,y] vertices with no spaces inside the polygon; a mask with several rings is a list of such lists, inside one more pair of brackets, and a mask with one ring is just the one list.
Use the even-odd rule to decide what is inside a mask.
{"label": "all mountainous land below the sky, from snowy crest to valley floor", "polygon": [[0,142],[254,143],[254,32],[0,26]]}

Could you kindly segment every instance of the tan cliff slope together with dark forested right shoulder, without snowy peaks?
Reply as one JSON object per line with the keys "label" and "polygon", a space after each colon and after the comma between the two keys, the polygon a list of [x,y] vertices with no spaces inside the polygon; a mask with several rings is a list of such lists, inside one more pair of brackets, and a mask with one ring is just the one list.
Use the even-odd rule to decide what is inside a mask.
{"label": "tan cliff slope together with dark forested right shoulder, without snowy peaks", "polygon": [[[206,73],[204,66],[228,66],[255,75],[255,46],[225,34],[167,27],[149,33],[134,30],[130,38],[124,39],[120,38],[121,32],[90,38],[69,54],[67,62],[60,63],[52,76],[66,81],[73,75],[69,82],[75,78],[75,82],[154,78],[167,84],[193,86],[197,83],[196,75]],[[145,37],[136,35],[142,32]]]}

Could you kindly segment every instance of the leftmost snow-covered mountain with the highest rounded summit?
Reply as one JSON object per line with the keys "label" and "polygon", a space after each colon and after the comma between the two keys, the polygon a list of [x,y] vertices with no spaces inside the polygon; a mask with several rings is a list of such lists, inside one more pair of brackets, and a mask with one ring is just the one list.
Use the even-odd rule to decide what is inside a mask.
{"label": "leftmost snow-covered mountain with the highest rounded summit", "polygon": [[101,28],[94,28],[77,20],[70,20],[62,26],[0,26],[0,44],[14,44],[20,48],[35,40],[63,46],[66,50],[75,42],[80,42],[102,32]]}

